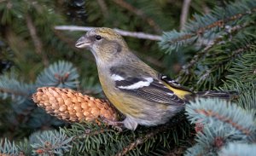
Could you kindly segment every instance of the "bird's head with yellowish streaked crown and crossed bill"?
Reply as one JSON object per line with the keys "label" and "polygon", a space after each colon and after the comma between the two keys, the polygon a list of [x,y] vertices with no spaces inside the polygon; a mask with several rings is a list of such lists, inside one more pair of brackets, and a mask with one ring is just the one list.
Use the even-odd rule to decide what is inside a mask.
{"label": "bird's head with yellowish streaked crown and crossed bill", "polygon": [[128,51],[125,40],[107,27],[91,29],[79,38],[75,46],[80,49],[90,49],[97,62],[113,61],[120,53]]}

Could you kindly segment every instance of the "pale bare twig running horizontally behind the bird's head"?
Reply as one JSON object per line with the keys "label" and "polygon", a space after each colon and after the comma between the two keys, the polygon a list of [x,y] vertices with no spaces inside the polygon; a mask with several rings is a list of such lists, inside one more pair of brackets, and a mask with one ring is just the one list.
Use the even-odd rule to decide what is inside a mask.
{"label": "pale bare twig running horizontally behind the bird's head", "polygon": [[[55,30],[67,30],[67,31],[83,31],[88,32],[90,29],[94,27],[89,26],[55,26]],[[114,28],[115,32],[118,32],[122,36],[126,37],[132,37],[132,38],[142,38],[142,39],[149,39],[149,40],[155,40],[160,41],[161,37],[158,35],[152,35],[144,32],[128,32],[121,29]]]}

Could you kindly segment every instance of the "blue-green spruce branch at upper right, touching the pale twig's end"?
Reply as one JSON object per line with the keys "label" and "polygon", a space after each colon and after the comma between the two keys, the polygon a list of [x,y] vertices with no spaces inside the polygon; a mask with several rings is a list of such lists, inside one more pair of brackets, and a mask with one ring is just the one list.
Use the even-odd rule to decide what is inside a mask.
{"label": "blue-green spruce branch at upper right, touching the pale twig's end", "polygon": [[195,14],[195,21],[190,20],[183,31],[164,32],[160,47],[171,53],[189,43],[197,43],[199,47],[205,46],[215,38],[230,34],[229,31],[239,27],[237,25],[240,23],[252,23],[247,17],[253,17],[255,12],[255,3],[243,1],[231,3],[225,9],[213,9],[211,14],[204,16]]}

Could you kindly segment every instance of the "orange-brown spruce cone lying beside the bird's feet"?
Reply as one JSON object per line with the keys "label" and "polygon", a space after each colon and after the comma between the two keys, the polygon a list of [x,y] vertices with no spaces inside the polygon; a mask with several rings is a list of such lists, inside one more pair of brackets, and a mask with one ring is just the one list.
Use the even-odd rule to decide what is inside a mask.
{"label": "orange-brown spruce cone lying beside the bird's feet", "polygon": [[55,87],[38,88],[32,100],[45,111],[62,120],[79,122],[93,121],[103,117],[117,121],[117,113],[108,101],[96,99],[88,95]]}

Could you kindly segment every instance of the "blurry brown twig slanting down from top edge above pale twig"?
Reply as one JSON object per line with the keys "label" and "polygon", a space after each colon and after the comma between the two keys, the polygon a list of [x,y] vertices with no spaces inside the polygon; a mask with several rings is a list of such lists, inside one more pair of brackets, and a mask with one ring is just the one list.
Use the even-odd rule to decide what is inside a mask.
{"label": "blurry brown twig slanting down from top edge above pale twig", "polygon": [[154,28],[154,32],[162,32],[160,26],[156,24],[153,19],[149,18],[147,14],[144,14],[142,10],[133,7],[130,3],[126,3],[124,0],[113,0],[113,2],[117,3],[119,6],[125,9],[128,9],[133,14],[137,14],[137,16],[141,17],[143,20],[146,20],[148,22],[148,25]]}

